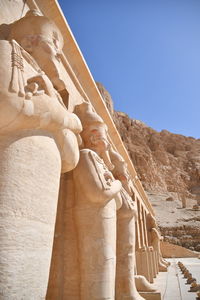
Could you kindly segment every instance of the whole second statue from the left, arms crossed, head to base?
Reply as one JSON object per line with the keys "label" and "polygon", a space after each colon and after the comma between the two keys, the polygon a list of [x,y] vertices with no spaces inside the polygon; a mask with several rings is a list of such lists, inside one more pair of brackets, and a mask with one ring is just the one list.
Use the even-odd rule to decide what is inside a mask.
{"label": "whole second statue from the left, arms crossed, head to base", "polygon": [[[75,224],[80,261],[80,299],[115,299],[116,209],[121,183],[109,168],[107,127],[89,103],[76,106],[84,148],[73,171]],[[104,160],[106,161],[106,165]]]}

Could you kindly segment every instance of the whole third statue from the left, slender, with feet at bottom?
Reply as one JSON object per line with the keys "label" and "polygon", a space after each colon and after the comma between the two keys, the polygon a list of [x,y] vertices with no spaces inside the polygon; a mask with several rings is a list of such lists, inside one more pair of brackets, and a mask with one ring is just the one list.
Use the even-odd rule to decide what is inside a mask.
{"label": "whole third statue from the left, slender, with feet at bottom", "polygon": [[132,182],[126,162],[122,156],[111,150],[110,157],[114,165],[114,177],[121,181],[120,191],[122,207],[117,212],[117,265],[116,265],[116,298],[143,299],[135,286],[135,221],[137,207],[131,198]]}

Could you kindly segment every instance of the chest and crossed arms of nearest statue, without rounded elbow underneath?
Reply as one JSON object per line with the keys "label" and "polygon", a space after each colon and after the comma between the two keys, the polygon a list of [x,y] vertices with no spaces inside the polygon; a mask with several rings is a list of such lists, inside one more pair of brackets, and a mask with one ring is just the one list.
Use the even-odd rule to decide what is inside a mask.
{"label": "chest and crossed arms of nearest statue, without rounded elbow underneath", "polygon": [[1,40],[0,131],[27,128],[68,128],[78,133],[81,123],[67,111],[34,59],[15,41]]}

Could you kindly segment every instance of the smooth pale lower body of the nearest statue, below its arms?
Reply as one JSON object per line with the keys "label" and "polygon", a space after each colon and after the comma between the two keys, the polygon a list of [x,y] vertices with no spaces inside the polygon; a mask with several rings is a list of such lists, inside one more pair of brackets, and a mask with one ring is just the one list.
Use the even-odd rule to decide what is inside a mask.
{"label": "smooth pale lower body of the nearest statue, below its arms", "polygon": [[41,130],[1,136],[0,153],[0,298],[44,299],[60,153],[52,136]]}

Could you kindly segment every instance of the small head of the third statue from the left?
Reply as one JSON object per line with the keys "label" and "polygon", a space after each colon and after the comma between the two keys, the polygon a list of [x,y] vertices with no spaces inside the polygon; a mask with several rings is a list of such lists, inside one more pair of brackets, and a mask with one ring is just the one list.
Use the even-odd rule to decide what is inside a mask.
{"label": "small head of the third statue from the left", "polygon": [[127,193],[132,196],[133,195],[133,183],[131,180],[131,175],[128,171],[127,163],[123,159],[123,157],[113,149],[110,149],[110,158],[112,164],[114,165],[114,169],[112,171],[113,175],[116,179],[120,180],[123,188],[127,191]]}

